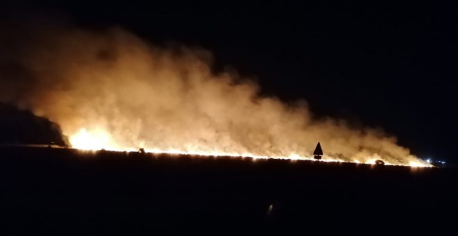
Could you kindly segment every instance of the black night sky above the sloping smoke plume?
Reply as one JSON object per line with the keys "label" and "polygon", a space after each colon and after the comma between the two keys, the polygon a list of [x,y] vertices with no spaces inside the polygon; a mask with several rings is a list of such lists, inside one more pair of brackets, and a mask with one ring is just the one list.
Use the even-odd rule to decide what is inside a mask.
{"label": "black night sky above the sloping smoke plume", "polygon": [[[204,47],[262,92],[380,126],[421,158],[457,158],[457,14],[439,3],[24,3],[87,27]],[[458,159],[458,158],[457,158]]]}

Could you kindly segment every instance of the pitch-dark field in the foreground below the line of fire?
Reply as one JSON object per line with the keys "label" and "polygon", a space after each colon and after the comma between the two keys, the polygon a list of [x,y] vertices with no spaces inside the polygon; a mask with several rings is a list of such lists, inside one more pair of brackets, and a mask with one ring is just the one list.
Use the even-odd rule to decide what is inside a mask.
{"label": "pitch-dark field in the foreground below the line of fire", "polygon": [[437,234],[457,224],[457,176],[453,169],[3,147],[0,235]]}

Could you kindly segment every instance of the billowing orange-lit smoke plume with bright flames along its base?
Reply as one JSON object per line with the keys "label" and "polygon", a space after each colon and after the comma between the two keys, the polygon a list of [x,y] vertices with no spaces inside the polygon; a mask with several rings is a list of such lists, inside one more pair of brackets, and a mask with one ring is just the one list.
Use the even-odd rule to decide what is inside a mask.
{"label": "billowing orange-lit smoke plume with bright flames along its base", "polygon": [[[305,103],[258,96],[211,53],[155,47],[121,28],[3,31],[0,101],[33,110],[76,147],[423,163],[380,130],[314,119]],[[89,143],[88,143],[89,142]]]}

